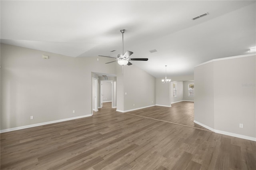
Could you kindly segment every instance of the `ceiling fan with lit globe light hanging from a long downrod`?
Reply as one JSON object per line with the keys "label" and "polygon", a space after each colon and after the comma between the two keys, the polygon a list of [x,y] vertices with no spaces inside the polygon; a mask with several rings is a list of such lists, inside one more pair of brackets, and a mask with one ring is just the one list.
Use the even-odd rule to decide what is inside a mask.
{"label": "ceiling fan with lit globe light hanging from a long downrod", "polygon": [[[122,40],[123,40],[123,51],[121,54],[118,54],[117,57],[110,57],[110,56],[105,56],[105,55],[99,55],[101,57],[110,57],[110,58],[114,58],[116,59],[115,61],[110,61],[108,63],[113,63],[113,62],[118,62],[119,65],[132,65],[132,63],[130,63],[131,60],[136,60],[136,61],[148,61],[147,58],[129,58],[130,55],[133,54],[132,51],[126,51],[124,53],[124,32],[125,30],[120,30],[120,32],[122,33]],[[106,64],[108,64],[106,63]]]}

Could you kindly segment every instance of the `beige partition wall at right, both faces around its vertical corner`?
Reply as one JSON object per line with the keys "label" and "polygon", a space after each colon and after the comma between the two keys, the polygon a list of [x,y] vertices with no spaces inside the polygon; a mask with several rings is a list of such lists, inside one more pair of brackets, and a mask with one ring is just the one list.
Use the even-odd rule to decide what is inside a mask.
{"label": "beige partition wall at right, both faces around its vertical corner", "polygon": [[194,77],[195,121],[218,132],[256,137],[255,55],[200,65],[195,67]]}

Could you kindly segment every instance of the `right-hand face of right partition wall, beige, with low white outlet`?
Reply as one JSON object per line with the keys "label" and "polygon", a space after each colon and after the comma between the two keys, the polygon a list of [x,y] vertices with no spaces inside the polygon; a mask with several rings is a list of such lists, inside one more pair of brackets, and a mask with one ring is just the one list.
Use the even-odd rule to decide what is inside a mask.
{"label": "right-hand face of right partition wall, beige, with low white outlet", "polygon": [[256,56],[214,61],[216,130],[256,137],[255,61]]}

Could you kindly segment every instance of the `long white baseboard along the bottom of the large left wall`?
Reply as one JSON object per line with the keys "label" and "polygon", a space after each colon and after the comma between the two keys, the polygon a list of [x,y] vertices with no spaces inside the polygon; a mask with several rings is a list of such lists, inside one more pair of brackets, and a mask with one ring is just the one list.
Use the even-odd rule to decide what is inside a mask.
{"label": "long white baseboard along the bottom of the large left wall", "polygon": [[6,129],[3,129],[3,130],[0,130],[0,133],[10,132],[10,131],[14,131],[14,130],[20,130],[20,129],[24,129],[24,128],[39,127],[39,126],[48,125],[48,124],[52,124],[52,123],[70,121],[70,120],[80,119],[80,118],[89,117],[89,116],[92,116],[92,114],[84,115],[84,116],[78,116],[78,117],[70,117],[70,118],[67,118],[67,119],[59,119],[59,120],[50,121],[50,122],[37,123],[37,124],[33,124],[33,125],[26,125],[26,126],[22,126],[22,127],[6,128]]}

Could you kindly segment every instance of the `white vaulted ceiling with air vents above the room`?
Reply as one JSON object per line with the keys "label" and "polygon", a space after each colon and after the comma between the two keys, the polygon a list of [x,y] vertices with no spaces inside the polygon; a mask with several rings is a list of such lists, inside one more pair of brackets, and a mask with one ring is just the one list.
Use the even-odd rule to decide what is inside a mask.
{"label": "white vaulted ceiling with air vents above the room", "polygon": [[190,75],[202,62],[256,47],[255,0],[0,3],[2,43],[71,57],[116,57],[126,29],[124,51],[147,57],[132,63],[155,77],[165,76],[164,65],[170,78]]}

